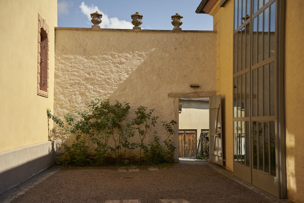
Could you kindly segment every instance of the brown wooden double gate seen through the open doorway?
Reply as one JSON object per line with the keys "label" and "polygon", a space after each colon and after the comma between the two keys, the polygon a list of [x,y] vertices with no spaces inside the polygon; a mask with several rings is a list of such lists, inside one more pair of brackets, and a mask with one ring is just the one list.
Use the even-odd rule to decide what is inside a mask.
{"label": "brown wooden double gate seen through the open doorway", "polygon": [[180,130],[178,133],[178,157],[195,158],[196,156],[196,131]]}

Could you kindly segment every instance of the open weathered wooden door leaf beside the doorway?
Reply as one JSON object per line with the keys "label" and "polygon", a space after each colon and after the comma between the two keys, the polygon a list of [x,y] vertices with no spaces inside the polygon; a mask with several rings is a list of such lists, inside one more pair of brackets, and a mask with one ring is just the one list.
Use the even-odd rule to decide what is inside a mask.
{"label": "open weathered wooden door leaf beside the doorway", "polygon": [[221,95],[209,98],[209,153],[213,163],[223,166]]}

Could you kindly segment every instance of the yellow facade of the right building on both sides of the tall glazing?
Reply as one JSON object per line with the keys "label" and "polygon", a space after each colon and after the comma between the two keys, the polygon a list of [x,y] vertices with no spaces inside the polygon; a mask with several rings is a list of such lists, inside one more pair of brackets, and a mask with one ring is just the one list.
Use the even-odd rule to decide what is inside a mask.
{"label": "yellow facade of the right building on both sides of the tall glazing", "polygon": [[[224,7],[222,1],[214,5],[209,15],[213,16],[214,30],[217,31],[216,53],[216,90],[222,95],[223,113],[223,148],[226,169],[233,171],[233,9],[234,1],[230,0]],[[287,198],[294,202],[304,199],[304,130],[302,123],[304,100],[303,50],[304,41],[302,26],[304,17],[300,14],[304,8],[301,0],[285,1],[284,17],[284,115],[286,145],[286,181]],[[284,144],[283,144],[284,145]],[[282,149],[285,150],[285,149]]]}

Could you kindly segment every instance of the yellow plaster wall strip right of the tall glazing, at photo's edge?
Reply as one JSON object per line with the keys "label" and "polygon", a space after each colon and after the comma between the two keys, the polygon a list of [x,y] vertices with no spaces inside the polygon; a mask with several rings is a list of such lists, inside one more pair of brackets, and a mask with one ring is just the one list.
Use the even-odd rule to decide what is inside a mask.
{"label": "yellow plaster wall strip right of the tall glazing, at photo's edge", "polygon": [[[304,2],[286,1],[285,10],[285,127],[288,199],[304,200]],[[301,25],[301,26],[299,26]]]}

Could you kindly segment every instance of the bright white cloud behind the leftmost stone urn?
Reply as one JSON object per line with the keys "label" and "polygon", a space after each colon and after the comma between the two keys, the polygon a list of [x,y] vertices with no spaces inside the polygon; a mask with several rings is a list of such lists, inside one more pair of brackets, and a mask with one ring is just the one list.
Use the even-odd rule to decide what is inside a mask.
{"label": "bright white cloud behind the leftmost stone urn", "polygon": [[109,28],[109,29],[132,29],[133,25],[130,22],[127,22],[125,20],[119,20],[118,18],[109,18],[107,14],[102,12],[98,9],[97,6],[91,5],[85,5],[85,2],[81,2],[79,8],[81,9],[81,12],[85,14],[88,18],[89,24],[93,25],[91,23],[91,13],[98,12],[102,14],[102,22],[99,24],[100,28]]}

